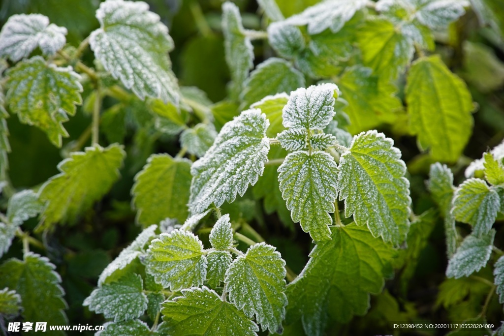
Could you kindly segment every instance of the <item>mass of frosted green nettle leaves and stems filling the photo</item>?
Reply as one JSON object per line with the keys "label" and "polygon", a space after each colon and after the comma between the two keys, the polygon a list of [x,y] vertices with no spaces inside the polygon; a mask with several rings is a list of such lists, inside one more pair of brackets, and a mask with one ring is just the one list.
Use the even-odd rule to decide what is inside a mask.
{"label": "mass of frosted green nettle leaves and stems filling the photo", "polygon": [[[77,48],[66,44],[66,28],[43,15],[8,20],[0,32],[0,180],[9,198],[0,256],[18,237],[23,257],[0,265],[0,322],[67,324],[56,261],[30,248],[51,257],[46,238],[107,196],[127,156],[147,161],[131,189],[143,231],[83,302],[108,320],[102,336],[256,335],[260,327],[281,333],[299,321],[306,334],[320,335],[331,323],[366,314],[370,294],[381,293],[394,267],[403,266],[397,260],[417,258],[424,245],[415,241],[430,214],[412,213],[401,152],[373,128],[397,126],[416,136],[434,161],[459,158],[472,129],[472,98],[438,54],[427,54],[434,34],[469,3],[326,0],[288,18],[275,1],[258,3],[265,31],[245,29],[238,7],[222,5],[231,83],[217,104],[178,85],[168,58],[173,40],[146,3],[101,3],[100,27]],[[250,71],[253,40],[276,56]],[[88,46],[93,66],[83,57]],[[71,136],[64,123],[81,104],[92,123],[62,147]],[[10,114],[62,147],[60,173],[33,190],[15,192],[9,183]],[[124,146],[131,129],[134,144]],[[138,155],[139,144],[165,137],[178,137],[178,154]],[[449,278],[478,271],[492,250],[501,254],[491,229],[504,207],[501,160],[495,150],[471,165],[490,185],[470,178],[457,189],[447,166],[432,166],[428,186],[446,221]],[[240,215],[246,202],[237,195],[250,186],[268,214],[287,226],[299,222],[312,238],[299,275]],[[33,232],[23,230],[37,216]],[[460,246],[456,220],[473,226]],[[500,303],[503,260],[494,271]]]}

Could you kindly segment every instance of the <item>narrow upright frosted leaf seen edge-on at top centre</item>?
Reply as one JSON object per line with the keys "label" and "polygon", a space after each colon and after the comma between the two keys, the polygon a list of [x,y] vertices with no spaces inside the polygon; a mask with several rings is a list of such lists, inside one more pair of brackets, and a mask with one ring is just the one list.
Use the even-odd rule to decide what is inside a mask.
{"label": "narrow upright frosted leaf seen edge-on at top centre", "polygon": [[222,32],[226,62],[231,73],[231,98],[238,98],[248,77],[248,71],[254,66],[254,47],[245,35],[241,16],[235,4],[222,4]]}

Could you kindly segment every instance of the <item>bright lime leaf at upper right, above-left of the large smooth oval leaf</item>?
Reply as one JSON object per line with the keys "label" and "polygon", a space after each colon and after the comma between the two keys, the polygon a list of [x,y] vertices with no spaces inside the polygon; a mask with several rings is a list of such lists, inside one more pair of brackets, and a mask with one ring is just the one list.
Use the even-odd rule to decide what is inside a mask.
{"label": "bright lime leaf at upper right, above-left of the large smooth oval leaf", "polygon": [[386,79],[396,79],[413,57],[411,41],[388,20],[366,21],[357,33],[357,39],[364,65]]}

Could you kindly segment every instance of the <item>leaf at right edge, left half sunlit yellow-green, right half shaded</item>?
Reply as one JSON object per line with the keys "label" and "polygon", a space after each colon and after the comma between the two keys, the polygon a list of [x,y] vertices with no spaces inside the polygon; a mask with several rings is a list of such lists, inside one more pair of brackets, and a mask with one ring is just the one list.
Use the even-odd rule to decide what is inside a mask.
{"label": "leaf at right edge, left half sunlit yellow-green, right half shaded", "polygon": [[473,226],[473,234],[481,237],[490,231],[500,208],[500,197],[479,178],[470,178],[455,191],[453,214],[457,221]]}

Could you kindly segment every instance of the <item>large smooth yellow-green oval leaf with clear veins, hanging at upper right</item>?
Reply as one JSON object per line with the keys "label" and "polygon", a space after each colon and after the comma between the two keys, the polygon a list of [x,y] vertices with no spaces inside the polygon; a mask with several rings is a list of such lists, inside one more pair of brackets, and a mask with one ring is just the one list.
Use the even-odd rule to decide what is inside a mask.
{"label": "large smooth yellow-green oval leaf with clear veins, hanging at upper right", "polygon": [[457,161],[473,125],[472,99],[465,83],[438,55],[422,57],[409,71],[406,102],[411,131],[418,135],[420,146],[430,148],[433,160]]}

